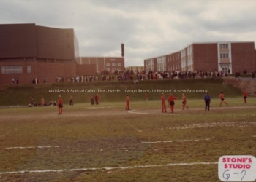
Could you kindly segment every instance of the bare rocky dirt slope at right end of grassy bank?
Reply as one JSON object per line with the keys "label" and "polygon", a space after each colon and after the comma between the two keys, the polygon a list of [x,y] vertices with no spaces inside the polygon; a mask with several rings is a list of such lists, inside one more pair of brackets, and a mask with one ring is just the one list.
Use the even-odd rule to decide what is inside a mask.
{"label": "bare rocky dirt slope at right end of grassy bank", "polygon": [[256,79],[223,78],[225,84],[231,84],[240,90],[246,90],[249,95],[256,96]]}

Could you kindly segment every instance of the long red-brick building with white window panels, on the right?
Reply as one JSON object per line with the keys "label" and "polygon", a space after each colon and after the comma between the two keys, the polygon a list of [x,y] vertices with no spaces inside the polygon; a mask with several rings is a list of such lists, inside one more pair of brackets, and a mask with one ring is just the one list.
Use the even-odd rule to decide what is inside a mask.
{"label": "long red-brick building with white window panels, on the right", "polygon": [[194,43],[181,51],[144,60],[148,71],[236,71],[256,70],[254,42]]}

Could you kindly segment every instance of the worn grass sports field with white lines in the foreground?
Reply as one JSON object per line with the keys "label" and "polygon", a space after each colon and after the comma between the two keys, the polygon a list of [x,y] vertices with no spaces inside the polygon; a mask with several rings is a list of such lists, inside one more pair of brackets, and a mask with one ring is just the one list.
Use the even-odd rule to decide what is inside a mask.
{"label": "worn grass sports field with white lines in the foreground", "polygon": [[219,181],[223,155],[256,156],[255,98],[0,109],[0,181]]}

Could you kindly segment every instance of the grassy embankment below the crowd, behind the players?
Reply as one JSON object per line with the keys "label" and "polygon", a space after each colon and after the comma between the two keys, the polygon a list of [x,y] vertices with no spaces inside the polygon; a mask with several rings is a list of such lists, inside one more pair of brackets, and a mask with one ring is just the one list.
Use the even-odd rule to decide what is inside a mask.
{"label": "grassy embankment below the crowd, behind the players", "polygon": [[223,84],[223,79],[186,79],[186,80],[148,80],[134,84],[125,82],[83,82],[83,83],[55,83],[55,84],[16,84],[1,85],[1,106],[27,105],[32,96],[39,103],[41,98],[45,102],[56,101],[58,95],[64,98],[64,103],[69,103],[72,95],[74,103],[90,103],[90,96],[98,93],[100,101],[124,101],[127,94],[131,100],[145,100],[148,93],[149,100],[159,100],[162,92],[165,98],[169,92],[181,98],[181,94],[187,98],[203,98],[204,93],[210,92],[212,98],[218,98],[219,92],[225,92],[226,98],[241,96],[241,90],[230,84]]}

